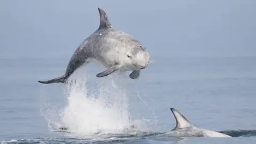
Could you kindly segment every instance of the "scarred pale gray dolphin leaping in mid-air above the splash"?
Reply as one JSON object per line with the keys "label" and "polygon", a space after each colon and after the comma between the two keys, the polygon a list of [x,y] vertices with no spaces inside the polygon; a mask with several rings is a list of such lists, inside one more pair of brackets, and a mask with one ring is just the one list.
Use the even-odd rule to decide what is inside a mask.
{"label": "scarred pale gray dolphin leaping in mid-air above the splash", "polygon": [[66,83],[75,70],[89,62],[95,62],[107,68],[97,74],[97,77],[107,76],[117,70],[132,70],[129,75],[132,79],[140,76],[140,70],[145,69],[150,61],[148,50],[131,35],[114,29],[106,12],[100,8],[98,10],[99,28],[78,46],[68,63],[65,75],[49,81],[38,81],[39,83]]}

